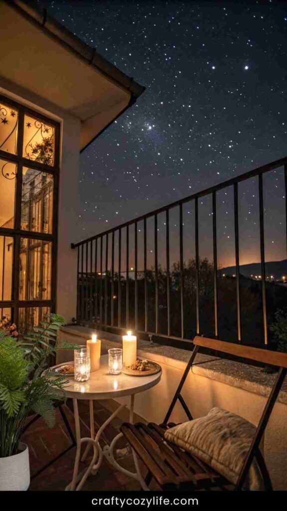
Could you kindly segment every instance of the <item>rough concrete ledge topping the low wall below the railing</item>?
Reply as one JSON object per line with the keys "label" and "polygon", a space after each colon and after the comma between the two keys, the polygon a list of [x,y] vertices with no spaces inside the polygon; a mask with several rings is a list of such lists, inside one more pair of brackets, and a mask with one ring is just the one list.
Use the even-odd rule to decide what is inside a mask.
{"label": "rough concrete ledge topping the low wall below the railing", "polygon": [[[86,339],[91,337],[92,333],[97,333],[98,338],[102,340],[102,347],[105,352],[109,348],[117,347],[119,343],[122,343],[122,337],[119,335],[99,330],[95,331],[86,327],[68,326],[62,328],[61,331],[63,339],[65,338],[65,333],[68,337],[70,335],[77,336],[79,344],[82,342],[80,342],[80,339],[83,339],[84,343]],[[138,355],[183,371],[190,357],[190,352],[138,339]],[[211,380],[217,380],[232,387],[242,388],[264,397],[269,396],[270,389],[276,378],[276,374],[268,374],[259,367],[201,354],[198,354],[196,357],[196,364],[192,368],[192,373],[210,378]],[[285,379],[282,385],[278,401],[287,404],[287,379]]]}

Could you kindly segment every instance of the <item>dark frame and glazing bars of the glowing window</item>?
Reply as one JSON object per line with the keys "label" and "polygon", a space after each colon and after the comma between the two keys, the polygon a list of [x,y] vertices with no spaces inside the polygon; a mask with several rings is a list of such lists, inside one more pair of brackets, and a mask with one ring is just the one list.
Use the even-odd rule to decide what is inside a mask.
{"label": "dark frame and glazing bars of the glowing window", "polygon": [[[51,312],[56,311],[56,286],[57,286],[57,248],[58,248],[58,202],[59,202],[59,174],[60,174],[60,123],[32,110],[31,108],[17,103],[0,94],[0,102],[18,110],[18,134],[17,154],[12,154],[0,149],[0,158],[15,162],[17,165],[16,191],[14,205],[14,228],[0,227],[0,236],[13,238],[13,262],[12,262],[12,292],[11,300],[0,299],[0,310],[11,309],[12,321],[18,325],[19,309],[31,307],[50,307]],[[39,121],[53,126],[55,129],[54,164],[53,166],[42,164],[22,156],[23,134],[25,114],[31,115]],[[37,231],[21,229],[21,199],[22,199],[22,171],[23,167],[29,167],[40,172],[53,175],[53,221],[52,234],[39,233]],[[1,199],[0,199],[1,203]],[[20,273],[20,239],[30,238],[52,242],[51,261],[51,299],[49,300],[20,300],[19,299],[19,273]],[[0,318],[1,319],[1,318]]]}

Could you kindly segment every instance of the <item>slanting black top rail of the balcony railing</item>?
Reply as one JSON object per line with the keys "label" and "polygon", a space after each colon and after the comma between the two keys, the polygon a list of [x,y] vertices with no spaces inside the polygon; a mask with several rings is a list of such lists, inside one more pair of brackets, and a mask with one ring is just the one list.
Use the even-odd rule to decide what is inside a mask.
{"label": "slanting black top rail of the balcony railing", "polygon": [[271,170],[277,169],[278,167],[282,167],[283,165],[287,165],[287,156],[285,156],[284,158],[279,158],[275,161],[271,161],[270,163],[268,163],[266,165],[262,165],[261,167],[256,167],[255,169],[249,170],[248,172],[245,172],[244,174],[240,174],[239,176],[232,177],[231,179],[228,179],[227,181],[223,181],[222,183],[214,184],[212,187],[206,188],[205,190],[202,190],[201,192],[197,192],[195,194],[188,195],[186,197],[183,197],[182,199],[176,200],[175,202],[171,202],[170,204],[161,206],[157,210],[151,211],[149,213],[145,213],[144,215],[140,215],[136,218],[133,218],[132,220],[128,220],[127,222],[119,224],[115,227],[111,227],[110,229],[105,230],[102,233],[95,234],[94,236],[91,236],[90,238],[79,241],[78,243],[72,243],[71,247],[76,248],[80,245],[83,245],[84,243],[89,243],[90,241],[93,241],[97,238],[101,238],[102,236],[113,233],[114,231],[116,231],[118,229],[122,229],[124,227],[127,227],[128,225],[132,225],[132,224],[135,224],[136,222],[140,222],[141,220],[144,220],[145,218],[147,219],[147,218],[153,217],[154,215],[163,213],[166,210],[170,210],[173,207],[179,206],[180,204],[184,204],[185,202],[189,202],[190,200],[194,200],[196,198],[210,195],[212,192],[218,192],[219,190],[230,187],[234,183],[240,183],[241,181],[245,181],[246,179],[256,177],[259,174],[264,174],[265,172],[269,172]]}

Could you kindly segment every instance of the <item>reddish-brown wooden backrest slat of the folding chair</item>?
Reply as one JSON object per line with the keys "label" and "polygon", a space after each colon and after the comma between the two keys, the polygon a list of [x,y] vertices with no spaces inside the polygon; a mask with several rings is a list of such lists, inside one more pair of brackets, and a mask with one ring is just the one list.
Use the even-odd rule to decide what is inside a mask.
{"label": "reddish-brown wooden backrest slat of the folding chair", "polygon": [[244,346],[243,344],[235,344],[232,342],[218,341],[217,339],[209,339],[208,337],[199,336],[194,338],[193,343],[196,346],[220,351],[235,357],[262,362],[263,364],[275,365],[276,367],[284,367],[285,369],[287,368],[287,353],[262,350],[261,348]]}

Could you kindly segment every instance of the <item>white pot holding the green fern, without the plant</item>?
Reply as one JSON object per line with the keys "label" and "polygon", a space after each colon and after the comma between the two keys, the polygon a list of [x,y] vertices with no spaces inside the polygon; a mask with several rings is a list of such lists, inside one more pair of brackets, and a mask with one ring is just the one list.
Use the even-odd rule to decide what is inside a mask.
{"label": "white pot holding the green fern, without the plant", "polygon": [[29,450],[19,444],[20,452],[14,456],[0,458],[0,491],[26,491],[30,484]]}

